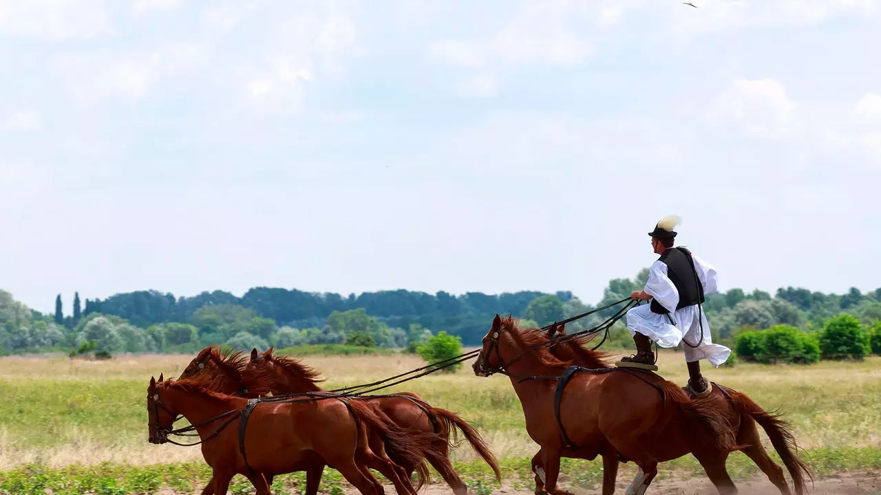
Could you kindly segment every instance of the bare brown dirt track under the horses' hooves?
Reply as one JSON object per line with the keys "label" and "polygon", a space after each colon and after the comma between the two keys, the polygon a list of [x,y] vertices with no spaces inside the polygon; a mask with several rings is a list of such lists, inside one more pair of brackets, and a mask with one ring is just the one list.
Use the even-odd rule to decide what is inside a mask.
{"label": "bare brown dirt track under the horses' hooves", "polygon": [[[622,495],[630,479],[618,477],[618,486],[615,493]],[[591,490],[563,488],[574,492],[576,495],[588,495],[599,493],[600,487]],[[744,495],[779,495],[777,490],[765,477],[756,477],[750,481],[737,484],[737,490]],[[352,491],[352,495],[358,491]],[[386,494],[392,495],[395,489],[386,487]],[[470,491],[473,494],[473,491]],[[706,478],[688,480],[662,479],[653,483],[646,491],[646,495],[718,495],[715,487]],[[813,486],[808,482],[807,494],[809,495],[881,495],[881,471],[867,471],[859,473],[842,473],[818,479]],[[174,491],[160,491],[158,495],[175,495]],[[420,495],[452,495],[452,491],[445,485],[432,485]],[[533,495],[532,491],[516,491],[510,488],[497,488],[492,495]]]}

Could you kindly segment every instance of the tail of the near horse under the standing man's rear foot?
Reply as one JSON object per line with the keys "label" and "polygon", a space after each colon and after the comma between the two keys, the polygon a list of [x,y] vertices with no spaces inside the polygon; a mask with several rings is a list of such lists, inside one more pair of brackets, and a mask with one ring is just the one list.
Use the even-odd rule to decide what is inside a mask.
{"label": "tail of the near horse under the standing man's rear foot", "polygon": [[663,401],[667,405],[665,409],[668,419],[683,414],[689,423],[698,425],[704,432],[715,441],[715,447],[720,452],[734,452],[740,450],[737,445],[736,432],[729,424],[725,414],[714,407],[714,399],[711,395],[691,399],[685,395],[685,391],[675,383],[663,381],[658,383],[663,393]]}

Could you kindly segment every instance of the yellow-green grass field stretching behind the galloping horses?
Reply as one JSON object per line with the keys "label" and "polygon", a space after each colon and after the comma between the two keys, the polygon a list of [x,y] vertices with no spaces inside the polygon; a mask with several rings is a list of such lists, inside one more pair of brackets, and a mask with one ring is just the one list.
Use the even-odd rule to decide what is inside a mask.
{"label": "yellow-green grass field stretching behind the galloping horses", "polygon": [[[190,358],[0,358],[0,471],[4,472],[0,474],[0,491],[4,486],[9,491],[21,477],[105,477],[116,480],[101,482],[111,485],[132,484],[135,482],[126,480],[137,478],[148,488],[156,485],[139,491],[132,488],[134,485],[93,489],[96,493],[134,493],[157,491],[164,484],[174,484],[174,479],[196,483],[207,476],[198,447],[154,446],[146,441],[145,394],[150,376],[177,376]],[[411,355],[309,356],[304,360],[322,371],[327,388],[376,380],[424,365]],[[685,362],[680,353],[662,352],[659,365],[666,378],[685,384]],[[705,374],[750,395],[766,410],[781,408],[818,473],[881,468],[881,358],[814,366],[738,364],[706,369]],[[531,478],[528,460],[537,446],[526,435],[520,403],[506,377],[478,378],[470,366],[464,366],[458,373],[435,373],[393,389],[410,390],[433,405],[459,412],[478,425],[510,476]],[[488,479],[485,464],[473,462],[470,447],[459,447],[454,459],[463,477]],[[585,465],[576,469],[581,474],[569,478],[571,483],[595,480],[598,466]],[[754,472],[739,453],[732,455],[729,465],[739,477]],[[674,471],[677,476],[702,476],[691,456],[665,463],[660,469],[663,476]],[[37,472],[41,475],[35,477]],[[325,471],[326,480],[333,481],[335,475],[336,471]],[[144,481],[148,478],[153,481]],[[299,479],[290,478],[286,483]],[[80,491],[85,490],[82,483]],[[179,488],[186,491],[186,486]],[[43,492],[39,487],[28,490]]]}

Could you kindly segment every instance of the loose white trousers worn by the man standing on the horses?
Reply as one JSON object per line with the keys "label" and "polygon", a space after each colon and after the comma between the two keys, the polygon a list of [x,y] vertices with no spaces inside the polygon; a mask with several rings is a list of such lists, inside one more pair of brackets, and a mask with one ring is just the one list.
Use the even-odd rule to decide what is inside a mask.
{"label": "loose white trousers worn by the man standing on the horses", "polygon": [[[685,339],[687,344],[683,344],[683,350],[686,363],[707,359],[711,365],[719,367],[728,360],[731,350],[724,345],[713,344],[707,315],[700,311],[699,319],[698,314],[697,305],[683,307],[676,313],[657,314],[652,313],[651,305],[643,304],[627,312],[627,329],[630,330],[631,336],[639,332],[666,348],[676,347]],[[672,318],[673,324],[670,324],[668,316]],[[702,341],[700,340],[701,324],[704,334]]]}

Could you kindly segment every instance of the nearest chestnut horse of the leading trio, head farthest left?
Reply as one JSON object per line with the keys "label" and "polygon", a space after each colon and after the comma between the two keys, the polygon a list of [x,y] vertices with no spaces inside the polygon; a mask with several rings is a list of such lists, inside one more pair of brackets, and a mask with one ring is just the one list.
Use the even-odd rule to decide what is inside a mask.
{"label": "nearest chestnut horse of the leading trio, head farthest left", "polygon": [[[378,495],[381,484],[356,461],[360,457],[362,463],[389,471],[381,469],[381,462],[366,448],[371,431],[408,459],[419,458],[418,440],[413,435],[389,425],[360,403],[302,397],[300,402],[258,403],[248,417],[248,399],[213,391],[217,382],[218,377],[208,373],[177,381],[163,381],[160,375],[159,382],[151,378],[147,388],[151,443],[169,441],[178,415],[186,417],[200,437],[205,462],[213,471],[204,494],[225,495],[232,477],[241,474],[254,484],[258,495],[270,495],[264,474],[285,474],[322,462],[337,469],[361,493]],[[268,382],[263,376],[249,388],[263,394]],[[244,430],[239,431],[243,421],[247,421],[247,436],[241,436]],[[393,469],[390,473],[395,475]],[[401,495],[415,493],[409,480],[404,483]]]}

